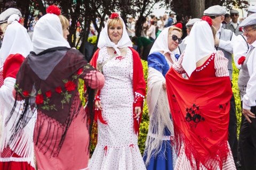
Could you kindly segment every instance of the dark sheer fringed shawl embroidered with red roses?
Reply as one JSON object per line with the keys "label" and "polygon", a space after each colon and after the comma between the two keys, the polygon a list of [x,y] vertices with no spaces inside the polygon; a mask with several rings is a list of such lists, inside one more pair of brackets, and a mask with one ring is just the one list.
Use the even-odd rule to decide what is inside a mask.
{"label": "dark sheer fringed shawl embroidered with red roses", "polygon": [[[94,70],[76,49],[55,47],[38,55],[30,52],[20,67],[14,86],[16,90],[15,104],[9,117],[14,112],[17,100],[24,99],[25,106],[18,114],[20,115],[17,117],[19,118],[18,123],[13,125],[12,137],[9,142],[12,142],[16,135],[19,135],[20,130],[29,121],[31,115],[28,115],[29,112],[27,111],[33,111],[33,114],[37,111],[43,116],[41,116],[41,120],[37,120],[34,130],[35,145],[43,149],[45,153],[51,148],[51,155],[58,156],[71,122],[81,111],[82,103],[79,98],[78,79],[84,79],[87,73]],[[88,98],[87,109],[86,111],[83,109],[82,113],[84,114],[84,123],[89,126],[90,134],[93,122],[90,120],[94,118],[92,109],[94,90],[90,88],[92,81],[92,79],[86,79],[84,82]],[[42,134],[41,126],[45,123],[48,123],[47,132]],[[49,134],[52,136],[49,137]],[[38,140],[39,135],[41,137],[44,135],[43,141]],[[61,139],[58,139],[60,136]]]}

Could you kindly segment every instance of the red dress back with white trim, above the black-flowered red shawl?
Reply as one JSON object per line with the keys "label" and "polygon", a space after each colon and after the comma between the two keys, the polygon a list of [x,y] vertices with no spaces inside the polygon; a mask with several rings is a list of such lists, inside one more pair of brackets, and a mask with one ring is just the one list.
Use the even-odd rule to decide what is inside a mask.
{"label": "red dress back with white trim, above the black-flowered red shawl", "polygon": [[[215,54],[214,54],[214,56],[215,56]],[[212,58],[211,61],[209,61],[209,59],[207,59],[202,66],[196,67],[196,70],[200,70],[202,67],[204,69],[200,70],[200,71],[194,71],[190,75],[189,79],[191,80],[191,79],[198,79],[198,78],[216,77],[215,76],[216,70],[213,69],[214,68],[214,56],[213,56],[213,58],[212,58],[212,56],[210,57],[210,58]],[[209,64],[206,65],[206,63],[208,63],[208,62],[209,62]]]}

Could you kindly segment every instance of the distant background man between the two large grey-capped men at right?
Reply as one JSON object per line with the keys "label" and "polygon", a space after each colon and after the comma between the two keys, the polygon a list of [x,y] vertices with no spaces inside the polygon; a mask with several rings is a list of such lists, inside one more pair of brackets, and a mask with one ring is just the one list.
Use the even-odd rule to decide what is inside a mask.
{"label": "distant background man between the two large grey-capped men at right", "polygon": [[237,10],[230,10],[230,18],[232,21],[226,24],[226,29],[229,29],[232,32],[234,32],[236,36],[243,33],[241,29],[239,29],[238,27],[239,12]]}

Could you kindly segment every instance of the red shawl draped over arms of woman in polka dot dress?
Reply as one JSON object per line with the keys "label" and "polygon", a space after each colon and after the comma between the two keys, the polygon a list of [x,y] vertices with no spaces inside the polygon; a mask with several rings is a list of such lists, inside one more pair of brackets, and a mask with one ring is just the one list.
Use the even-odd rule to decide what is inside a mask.
{"label": "red shawl draped over arms of woman in polka dot dress", "polygon": [[[138,92],[142,96],[146,95],[146,82],[143,75],[143,67],[141,64],[140,56],[139,54],[131,47],[129,47],[132,50],[132,57],[133,57],[133,95],[135,97],[135,92]],[[99,56],[99,50],[100,48],[94,53],[92,60],[90,64],[96,68],[97,67],[97,60]],[[98,94],[100,94],[100,91],[98,91]],[[143,100],[141,102],[133,103],[133,113],[135,107],[140,106],[141,112],[143,111]],[[96,113],[95,113],[96,117]],[[137,119],[134,119],[134,131],[137,135],[139,135],[139,127],[141,122],[142,113],[139,118],[139,122]],[[102,119],[101,112],[98,112],[98,118],[102,123],[107,123]]]}

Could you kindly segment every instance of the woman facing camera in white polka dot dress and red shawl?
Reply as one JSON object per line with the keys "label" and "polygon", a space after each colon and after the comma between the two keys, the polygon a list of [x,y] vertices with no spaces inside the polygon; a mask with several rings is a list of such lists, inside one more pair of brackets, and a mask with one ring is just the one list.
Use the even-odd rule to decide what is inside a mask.
{"label": "woman facing camera in white polka dot dress and red shawl", "polygon": [[95,98],[98,143],[89,163],[94,169],[146,169],[138,147],[139,123],[146,82],[139,54],[125,24],[111,14],[100,33],[91,64],[102,69],[105,85]]}

